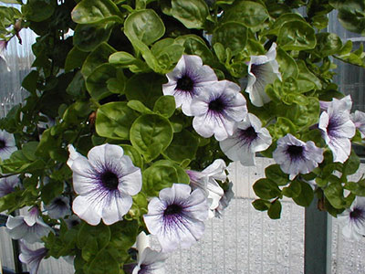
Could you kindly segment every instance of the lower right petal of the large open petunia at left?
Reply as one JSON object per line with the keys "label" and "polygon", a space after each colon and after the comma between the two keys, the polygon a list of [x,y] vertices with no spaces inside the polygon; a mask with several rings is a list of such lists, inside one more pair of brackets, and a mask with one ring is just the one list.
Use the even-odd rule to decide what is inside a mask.
{"label": "lower right petal of the large open petunia at left", "polygon": [[109,204],[105,205],[102,210],[102,219],[105,225],[109,226],[122,220],[132,204],[133,200],[130,195],[120,195],[120,192],[110,195]]}

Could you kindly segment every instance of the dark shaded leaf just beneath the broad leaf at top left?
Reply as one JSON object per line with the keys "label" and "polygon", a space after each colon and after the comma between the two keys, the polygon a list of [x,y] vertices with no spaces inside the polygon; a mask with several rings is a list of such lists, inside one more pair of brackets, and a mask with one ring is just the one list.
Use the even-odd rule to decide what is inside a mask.
{"label": "dark shaded leaf just beneath the broad leaf at top left", "polygon": [[110,38],[113,22],[79,24],[75,28],[74,46],[82,51],[92,51]]}

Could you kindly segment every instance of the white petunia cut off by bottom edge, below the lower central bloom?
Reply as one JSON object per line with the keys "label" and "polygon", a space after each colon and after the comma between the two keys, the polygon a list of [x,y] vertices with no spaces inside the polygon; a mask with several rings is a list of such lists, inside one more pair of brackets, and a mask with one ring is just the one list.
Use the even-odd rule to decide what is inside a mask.
{"label": "white petunia cut off by bottom edge, below the lower central bloom", "polygon": [[167,255],[163,252],[144,248],[132,274],[164,274]]}

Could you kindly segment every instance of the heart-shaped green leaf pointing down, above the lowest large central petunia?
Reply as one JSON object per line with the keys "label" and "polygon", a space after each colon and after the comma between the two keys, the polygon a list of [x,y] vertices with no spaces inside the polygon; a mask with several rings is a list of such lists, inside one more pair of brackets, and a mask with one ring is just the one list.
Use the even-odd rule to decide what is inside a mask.
{"label": "heart-shaped green leaf pointing down, above the lowest large central petunia", "polygon": [[172,142],[172,125],[161,115],[144,114],[131,126],[130,142],[151,162]]}

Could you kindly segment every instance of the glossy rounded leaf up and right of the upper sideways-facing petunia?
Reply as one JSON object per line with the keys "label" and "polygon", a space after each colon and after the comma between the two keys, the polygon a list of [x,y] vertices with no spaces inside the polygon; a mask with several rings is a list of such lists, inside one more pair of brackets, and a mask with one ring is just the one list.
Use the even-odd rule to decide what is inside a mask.
{"label": "glossy rounded leaf up and right of the upper sideways-facing petunia", "polygon": [[277,37],[277,44],[284,50],[312,49],[316,43],[315,30],[302,21],[285,23]]}

